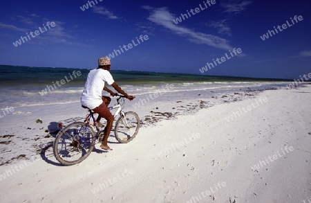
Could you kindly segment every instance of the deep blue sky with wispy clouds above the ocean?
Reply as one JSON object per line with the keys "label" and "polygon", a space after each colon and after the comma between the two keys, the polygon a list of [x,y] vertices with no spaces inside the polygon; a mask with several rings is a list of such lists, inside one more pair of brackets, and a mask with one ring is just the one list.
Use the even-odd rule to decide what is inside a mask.
{"label": "deep blue sky with wispy clouds above the ocean", "polygon": [[[82,0],[1,1],[0,64],[93,69],[98,58],[148,35],[111,58],[111,69],[291,79],[311,72],[309,1],[215,0],[210,6],[205,0],[93,2],[91,7]],[[83,11],[83,5],[89,8]],[[176,24],[187,10],[190,17]],[[303,20],[292,24],[295,15]],[[48,21],[55,26],[30,35],[39,27],[44,30]],[[261,39],[286,21],[291,26]],[[26,33],[30,39],[15,46]],[[242,53],[199,71],[233,48]]]}

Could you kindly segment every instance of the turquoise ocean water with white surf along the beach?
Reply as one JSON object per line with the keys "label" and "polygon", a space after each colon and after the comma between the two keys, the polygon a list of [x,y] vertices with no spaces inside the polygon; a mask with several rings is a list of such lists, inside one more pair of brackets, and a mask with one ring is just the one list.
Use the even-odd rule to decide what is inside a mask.
{"label": "turquoise ocean water with white surf along the beach", "polygon": [[[77,74],[77,71],[80,71],[81,75]],[[90,70],[0,65],[0,109],[77,102],[81,96],[88,71]],[[144,96],[159,91],[164,89],[167,84],[173,85],[173,88],[165,89],[166,94],[182,96],[187,91],[192,91],[194,94],[207,94],[215,91],[279,88],[285,87],[291,82],[289,80],[146,71],[112,70],[111,74],[115,82],[133,96]]]}

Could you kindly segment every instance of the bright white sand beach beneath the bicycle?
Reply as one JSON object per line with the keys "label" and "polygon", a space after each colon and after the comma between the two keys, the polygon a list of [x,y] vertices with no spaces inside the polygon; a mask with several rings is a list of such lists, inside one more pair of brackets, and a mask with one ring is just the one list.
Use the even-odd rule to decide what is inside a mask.
{"label": "bright white sand beach beneath the bicycle", "polygon": [[308,202],[310,96],[305,85],[126,102],[142,118],[137,137],[110,152],[97,144],[74,166],[53,157],[50,132],[86,110],[20,107],[1,118],[0,202]]}

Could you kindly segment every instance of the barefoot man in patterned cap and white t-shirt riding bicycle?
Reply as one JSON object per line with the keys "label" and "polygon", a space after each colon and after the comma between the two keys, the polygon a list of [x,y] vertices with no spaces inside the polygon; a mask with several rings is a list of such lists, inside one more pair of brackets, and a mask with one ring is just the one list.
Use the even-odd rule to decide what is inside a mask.
{"label": "barefoot man in patterned cap and white t-shirt riding bicycle", "polygon": [[110,71],[111,62],[109,58],[104,57],[98,59],[97,69],[93,69],[88,73],[86,83],[84,85],[84,90],[81,96],[82,107],[87,107],[92,109],[93,112],[98,114],[96,119],[97,123],[100,123],[100,118],[105,118],[107,125],[104,128],[104,139],[102,140],[102,145],[100,148],[104,150],[112,150],[107,144],[108,137],[113,125],[113,115],[108,109],[108,105],[111,102],[109,96],[102,96],[102,90],[110,93],[111,96],[115,96],[115,93],[105,86],[105,82],[111,85],[117,92],[123,94],[129,100],[133,100],[134,96],[130,96],[125,93],[113,80]]}

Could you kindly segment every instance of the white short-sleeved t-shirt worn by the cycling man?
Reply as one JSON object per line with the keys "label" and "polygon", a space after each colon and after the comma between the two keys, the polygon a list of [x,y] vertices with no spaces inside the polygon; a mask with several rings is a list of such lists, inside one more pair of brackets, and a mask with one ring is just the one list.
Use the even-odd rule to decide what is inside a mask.
{"label": "white short-sleeved t-shirt worn by the cycling man", "polygon": [[111,73],[104,69],[93,69],[88,73],[88,78],[81,96],[81,104],[89,109],[95,109],[102,104],[102,90],[105,82],[109,85],[115,82]]}

